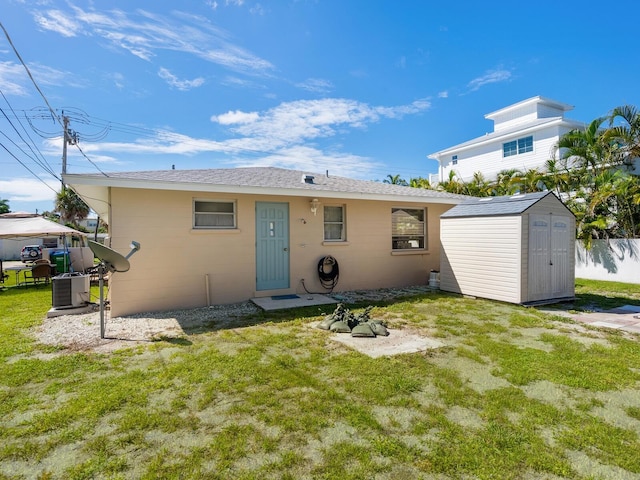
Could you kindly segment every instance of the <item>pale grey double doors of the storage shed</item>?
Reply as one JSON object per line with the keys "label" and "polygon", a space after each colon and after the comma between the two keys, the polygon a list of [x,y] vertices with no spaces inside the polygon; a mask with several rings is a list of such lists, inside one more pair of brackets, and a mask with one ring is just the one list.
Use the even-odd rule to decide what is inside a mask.
{"label": "pale grey double doors of the storage shed", "polygon": [[572,295],[569,217],[529,217],[529,301]]}

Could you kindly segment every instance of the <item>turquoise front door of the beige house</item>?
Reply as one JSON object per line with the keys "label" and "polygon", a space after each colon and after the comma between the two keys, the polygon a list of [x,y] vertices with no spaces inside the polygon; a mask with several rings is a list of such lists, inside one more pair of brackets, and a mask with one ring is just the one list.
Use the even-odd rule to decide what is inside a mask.
{"label": "turquoise front door of the beige house", "polygon": [[256,202],[256,290],[289,288],[289,204]]}

